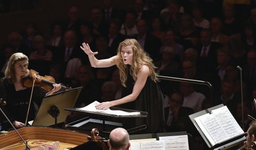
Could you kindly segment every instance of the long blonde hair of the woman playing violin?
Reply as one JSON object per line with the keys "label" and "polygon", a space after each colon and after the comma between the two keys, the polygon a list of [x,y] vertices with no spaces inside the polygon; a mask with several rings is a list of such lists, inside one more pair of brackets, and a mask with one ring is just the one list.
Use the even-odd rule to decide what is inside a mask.
{"label": "long blonde hair of the woman playing violin", "polygon": [[[28,57],[25,54],[23,54],[23,53],[14,53],[10,57],[10,59],[9,59],[9,61],[7,63],[7,67],[5,69],[5,72],[4,72],[5,78],[10,83],[13,84],[17,80],[16,76],[15,76],[14,64],[16,62],[24,61],[24,60],[26,60],[28,62]],[[28,69],[28,65],[26,66],[26,69]]]}

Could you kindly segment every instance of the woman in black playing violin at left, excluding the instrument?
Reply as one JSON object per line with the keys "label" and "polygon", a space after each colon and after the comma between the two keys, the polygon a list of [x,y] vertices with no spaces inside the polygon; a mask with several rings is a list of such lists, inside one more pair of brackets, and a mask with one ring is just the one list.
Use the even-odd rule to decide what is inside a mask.
{"label": "woman in black playing violin at left, excluding the instrument", "polygon": [[[28,57],[22,53],[14,53],[7,63],[5,70],[4,87],[6,91],[6,113],[12,124],[16,128],[24,127],[28,104],[32,88],[27,88],[22,84],[22,78],[27,77]],[[51,95],[60,89],[60,85],[55,84],[48,93],[42,93],[41,88],[34,87],[32,101],[30,103],[28,121],[35,118],[36,109],[34,103],[40,105],[45,95]]]}

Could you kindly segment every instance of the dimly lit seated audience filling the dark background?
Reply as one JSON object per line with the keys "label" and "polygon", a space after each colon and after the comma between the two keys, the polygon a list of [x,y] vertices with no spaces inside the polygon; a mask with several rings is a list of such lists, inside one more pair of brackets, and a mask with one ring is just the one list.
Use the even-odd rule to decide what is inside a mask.
{"label": "dimly lit seated audience filling the dark background", "polygon": [[[223,3],[135,0],[133,3],[127,1],[131,8],[124,6],[125,9],[113,2],[103,0],[97,7],[90,7],[87,11],[90,12],[89,16],[80,16],[80,13],[84,13],[79,11],[82,5],[71,6],[67,9],[67,14],[64,14],[63,18],[66,19],[63,21],[56,19],[47,24],[38,24],[35,20],[26,23],[24,29],[12,29],[6,44],[0,47],[1,77],[10,55],[22,52],[30,56],[29,69],[34,69],[41,75],[50,75],[62,85],[83,87],[75,105],[77,107],[93,101],[119,99],[122,87],[119,71],[115,68],[97,68],[91,71],[86,66],[89,63],[88,57],[82,53],[79,45],[88,43],[91,49],[99,52],[95,56],[103,59],[117,54],[120,41],[135,38],[154,59],[160,76],[202,80],[213,86],[211,95],[211,90],[205,85],[192,86],[161,80],[160,87],[166,98],[170,91],[181,89],[184,94],[181,107],[191,107],[194,112],[217,104],[227,105],[242,126],[241,78],[237,69],[239,65],[243,78],[244,118],[247,114],[255,113],[255,108],[248,107],[252,99],[256,98],[254,1],[251,4],[238,4],[238,1],[229,0],[224,0]],[[8,11],[3,10],[8,9],[4,4],[0,2],[0,12]],[[47,29],[48,24],[52,26]],[[42,31],[45,29],[36,26],[46,27],[46,31],[50,33],[44,33]],[[107,93],[104,83],[110,81],[115,86],[107,84],[108,89],[111,89]],[[100,94],[103,87],[105,91]],[[114,87],[115,92],[112,92]],[[199,94],[195,100],[191,98],[195,93],[202,95]],[[175,120],[179,120],[176,121],[179,128],[176,126],[174,130],[184,127],[183,124],[187,121],[180,116]],[[249,123],[249,120],[244,120],[246,128]],[[199,142],[197,144],[198,149],[203,147]]]}

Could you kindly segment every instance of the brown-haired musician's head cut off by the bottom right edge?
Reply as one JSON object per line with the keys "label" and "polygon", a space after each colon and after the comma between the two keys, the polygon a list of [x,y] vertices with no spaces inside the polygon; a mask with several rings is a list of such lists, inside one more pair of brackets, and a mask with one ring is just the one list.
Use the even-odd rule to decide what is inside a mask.
{"label": "brown-haired musician's head cut off by the bottom right edge", "polygon": [[[247,145],[247,148],[252,148],[252,143],[256,141],[255,136],[256,136],[256,121],[252,121],[250,123],[250,127],[246,132],[246,141],[244,142],[245,145]],[[255,145],[255,144],[254,144]],[[254,147],[255,149],[255,147]]]}

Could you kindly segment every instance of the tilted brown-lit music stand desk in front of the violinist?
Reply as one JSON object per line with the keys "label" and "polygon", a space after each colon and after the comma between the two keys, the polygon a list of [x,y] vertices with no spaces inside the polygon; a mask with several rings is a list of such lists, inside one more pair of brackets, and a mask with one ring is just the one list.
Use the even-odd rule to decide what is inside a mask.
{"label": "tilted brown-lit music stand desk in front of the violinist", "polygon": [[[61,91],[60,93],[45,96],[36,114],[32,126],[51,126],[64,122],[70,113],[66,108],[74,107],[82,87]],[[30,121],[29,121],[30,122]]]}

